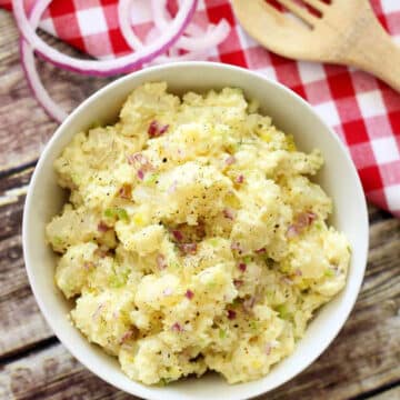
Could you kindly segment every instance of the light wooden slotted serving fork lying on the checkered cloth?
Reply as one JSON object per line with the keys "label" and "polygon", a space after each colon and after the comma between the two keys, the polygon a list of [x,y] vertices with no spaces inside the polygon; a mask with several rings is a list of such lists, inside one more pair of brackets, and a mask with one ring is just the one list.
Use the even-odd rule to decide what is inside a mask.
{"label": "light wooden slotted serving fork lying on the checkered cloth", "polygon": [[307,8],[296,0],[276,1],[297,18],[264,0],[233,0],[243,28],[266,48],[291,59],[358,67],[400,91],[400,47],[368,0],[302,0]]}

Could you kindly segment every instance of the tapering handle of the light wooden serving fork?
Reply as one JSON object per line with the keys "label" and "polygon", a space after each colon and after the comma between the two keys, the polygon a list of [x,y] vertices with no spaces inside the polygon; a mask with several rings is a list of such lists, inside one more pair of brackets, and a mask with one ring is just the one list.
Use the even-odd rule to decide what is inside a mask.
{"label": "tapering handle of the light wooden serving fork", "polygon": [[357,40],[342,56],[346,63],[372,73],[400,92],[400,47],[371,16],[360,23]]}

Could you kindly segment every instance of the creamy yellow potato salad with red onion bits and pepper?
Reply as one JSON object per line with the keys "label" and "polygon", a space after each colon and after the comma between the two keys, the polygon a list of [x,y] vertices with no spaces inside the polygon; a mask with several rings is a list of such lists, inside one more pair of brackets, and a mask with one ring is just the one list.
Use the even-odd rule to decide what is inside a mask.
{"label": "creamy yellow potato salad with red onion bits and pepper", "polygon": [[266,376],[346,284],[322,163],[239,89],[138,87],[54,163],[69,200],[46,234],[71,322],[146,384]]}

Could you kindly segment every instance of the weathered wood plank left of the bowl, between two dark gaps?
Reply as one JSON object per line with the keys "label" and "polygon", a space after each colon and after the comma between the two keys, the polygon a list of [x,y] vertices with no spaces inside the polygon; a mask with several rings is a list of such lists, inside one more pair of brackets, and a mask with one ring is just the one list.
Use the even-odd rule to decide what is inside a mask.
{"label": "weathered wood plank left of the bowl, between two dark gaps", "polygon": [[23,188],[31,171],[0,180],[0,357],[53,336],[29,288],[22,258]]}

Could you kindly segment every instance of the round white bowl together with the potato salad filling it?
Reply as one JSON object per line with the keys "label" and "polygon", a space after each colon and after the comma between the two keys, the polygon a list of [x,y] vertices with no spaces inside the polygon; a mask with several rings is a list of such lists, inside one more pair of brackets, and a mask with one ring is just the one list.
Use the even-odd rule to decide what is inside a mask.
{"label": "round white bowl together with the potato salad filling it", "polygon": [[93,373],[147,399],[247,399],[344,324],[368,217],[347,150],[300,97],[176,63],[108,84],[59,127],[23,248],[48,323]]}

